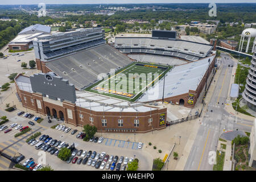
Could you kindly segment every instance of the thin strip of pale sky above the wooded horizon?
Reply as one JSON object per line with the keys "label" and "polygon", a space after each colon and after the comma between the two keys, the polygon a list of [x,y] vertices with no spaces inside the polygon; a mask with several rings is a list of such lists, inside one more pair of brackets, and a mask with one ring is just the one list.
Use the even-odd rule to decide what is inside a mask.
{"label": "thin strip of pale sky above the wooded horizon", "polygon": [[0,0],[0,5],[107,4],[107,3],[256,3],[256,0]]}

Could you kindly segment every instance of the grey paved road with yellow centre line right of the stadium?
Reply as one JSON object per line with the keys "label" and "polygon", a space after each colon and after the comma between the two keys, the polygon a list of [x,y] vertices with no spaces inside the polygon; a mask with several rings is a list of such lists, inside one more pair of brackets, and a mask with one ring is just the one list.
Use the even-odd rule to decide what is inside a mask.
{"label": "grey paved road with yellow centre line right of the stadium", "polygon": [[209,152],[216,151],[218,138],[224,129],[250,131],[252,121],[236,118],[232,113],[228,113],[224,107],[227,102],[230,78],[232,77],[232,67],[228,65],[237,64],[225,53],[221,53],[222,68],[219,69],[220,77],[216,80],[216,85],[212,98],[207,103],[207,113],[201,119],[201,126],[197,131],[195,142],[191,148],[184,170],[186,171],[211,171],[213,164],[209,164]]}

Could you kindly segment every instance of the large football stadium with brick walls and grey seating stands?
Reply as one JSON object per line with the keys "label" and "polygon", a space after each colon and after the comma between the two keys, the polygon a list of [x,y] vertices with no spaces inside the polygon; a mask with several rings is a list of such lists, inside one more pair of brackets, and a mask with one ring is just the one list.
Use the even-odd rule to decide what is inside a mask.
{"label": "large football stadium with brick walls and grey seating stands", "polygon": [[[214,45],[152,37],[105,41],[101,28],[79,28],[33,41],[41,73],[15,78],[24,107],[98,131],[145,133],[166,127],[159,101],[194,107],[214,72]],[[154,104],[154,105],[152,105]]]}

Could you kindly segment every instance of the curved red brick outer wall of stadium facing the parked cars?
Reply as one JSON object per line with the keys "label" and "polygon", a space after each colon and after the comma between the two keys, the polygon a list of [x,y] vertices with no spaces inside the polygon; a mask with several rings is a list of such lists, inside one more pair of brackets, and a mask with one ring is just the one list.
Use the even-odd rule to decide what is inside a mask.
{"label": "curved red brick outer wall of stadium facing the parked cars", "polygon": [[[21,75],[21,74],[20,74]],[[17,77],[19,77],[18,75]],[[16,77],[16,78],[17,78]],[[19,89],[16,84],[16,90],[22,101],[23,107],[36,111],[43,115],[56,115],[57,118],[63,118],[65,123],[74,126],[93,125],[97,127],[98,132],[120,132],[120,133],[146,133],[152,130],[164,129],[166,127],[166,119],[163,125],[160,125],[160,114],[164,114],[167,118],[167,108],[154,108],[147,112],[110,112],[110,111],[94,111],[76,106],[69,101],[56,101],[47,97],[43,97],[40,93],[31,93]],[[72,118],[69,117],[68,111],[72,112]],[[80,118],[80,114],[83,115]],[[90,121],[93,118],[93,122]],[[148,119],[152,118],[152,122]],[[106,126],[102,126],[102,119],[106,119]],[[123,119],[122,126],[118,126],[118,119]],[[139,125],[134,126],[134,119],[139,119]]]}

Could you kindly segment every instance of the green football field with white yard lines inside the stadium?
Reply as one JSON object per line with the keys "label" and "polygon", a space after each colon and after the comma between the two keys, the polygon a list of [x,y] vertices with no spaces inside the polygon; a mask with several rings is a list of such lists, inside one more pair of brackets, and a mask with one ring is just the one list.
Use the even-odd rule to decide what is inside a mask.
{"label": "green football field with white yard lines inside the stadium", "polygon": [[134,63],[122,71],[110,74],[100,83],[93,85],[89,91],[134,100],[153,86],[168,70],[170,67],[163,65]]}

